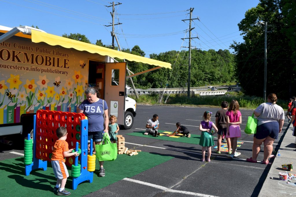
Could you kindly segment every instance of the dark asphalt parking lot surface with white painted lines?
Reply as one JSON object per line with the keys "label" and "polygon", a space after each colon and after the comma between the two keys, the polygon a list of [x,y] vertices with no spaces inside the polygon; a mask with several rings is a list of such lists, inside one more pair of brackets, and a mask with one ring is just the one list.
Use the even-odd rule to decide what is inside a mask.
{"label": "dark asphalt parking lot surface with white painted lines", "polygon": [[[240,110],[240,140],[244,144],[237,150],[241,155],[232,160],[225,157],[226,153],[214,153],[215,149],[212,147],[211,162],[201,162],[202,147],[199,145],[159,140],[157,137],[151,139],[125,135],[133,131],[144,131],[146,121],[155,113],[159,116],[160,130],[174,131],[176,122],[180,122],[189,128],[190,133],[200,134],[200,121],[207,110],[213,112],[212,121],[215,121],[214,116],[219,108],[137,105],[133,128],[119,131],[119,134],[125,137],[126,147],[174,158],[87,196],[258,196],[270,165],[246,162],[252,154],[253,136],[245,134],[243,130],[247,117],[252,115],[252,110]],[[286,126],[285,123],[283,130]],[[274,148],[279,146],[281,136],[282,134],[274,142]],[[11,154],[12,151],[23,152],[2,145],[0,148],[0,160],[20,157]],[[263,151],[257,160],[262,159]],[[105,172],[108,176],[108,169],[105,169]]]}

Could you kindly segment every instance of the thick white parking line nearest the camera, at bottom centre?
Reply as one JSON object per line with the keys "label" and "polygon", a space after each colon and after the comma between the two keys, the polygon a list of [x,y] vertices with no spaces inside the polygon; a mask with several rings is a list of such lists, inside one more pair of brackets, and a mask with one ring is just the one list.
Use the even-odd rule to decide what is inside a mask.
{"label": "thick white parking line nearest the camera, at bottom centre", "polygon": [[160,186],[160,185],[155,185],[155,184],[152,184],[152,183],[147,183],[147,182],[143,182],[143,181],[135,180],[135,179],[131,179],[131,178],[124,178],[123,180],[133,182],[133,183],[138,183],[138,184],[141,184],[141,185],[147,185],[147,186],[150,186],[150,187],[153,187],[153,188],[163,190],[163,192],[182,193],[182,194],[188,194],[188,195],[192,195],[192,196],[202,196],[202,197],[215,197],[215,196],[202,194],[202,193],[194,193],[194,192],[189,192],[189,191],[173,190],[173,189],[166,188],[166,187],[163,187],[163,186]]}

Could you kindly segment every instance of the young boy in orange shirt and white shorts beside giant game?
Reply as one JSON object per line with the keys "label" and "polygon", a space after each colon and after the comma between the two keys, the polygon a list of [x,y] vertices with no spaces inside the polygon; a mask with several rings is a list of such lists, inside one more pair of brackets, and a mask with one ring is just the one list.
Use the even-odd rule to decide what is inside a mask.
{"label": "young boy in orange shirt and white shorts beside giant game", "polygon": [[57,128],[57,137],[59,138],[54,144],[54,150],[52,152],[51,162],[54,175],[57,178],[57,184],[54,187],[53,192],[58,196],[68,196],[71,192],[65,190],[67,177],[69,177],[67,167],[65,165],[64,157],[79,156],[77,152],[72,152],[73,149],[68,148],[67,129],[63,126]]}

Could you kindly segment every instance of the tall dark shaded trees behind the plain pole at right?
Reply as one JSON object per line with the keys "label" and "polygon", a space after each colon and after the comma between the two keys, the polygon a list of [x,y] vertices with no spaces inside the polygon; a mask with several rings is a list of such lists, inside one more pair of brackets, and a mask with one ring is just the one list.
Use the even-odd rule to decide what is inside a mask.
{"label": "tall dark shaded trees behind the plain pole at right", "polygon": [[264,27],[260,21],[268,22],[266,93],[274,92],[281,98],[289,98],[296,93],[292,87],[295,74],[291,72],[295,69],[295,51],[289,44],[293,40],[291,32],[295,25],[288,27],[285,23],[287,15],[294,13],[295,16],[295,1],[292,2],[260,0],[255,8],[245,13],[245,18],[238,24],[244,42],[234,42],[231,47],[236,54],[238,80],[248,95],[263,96]]}

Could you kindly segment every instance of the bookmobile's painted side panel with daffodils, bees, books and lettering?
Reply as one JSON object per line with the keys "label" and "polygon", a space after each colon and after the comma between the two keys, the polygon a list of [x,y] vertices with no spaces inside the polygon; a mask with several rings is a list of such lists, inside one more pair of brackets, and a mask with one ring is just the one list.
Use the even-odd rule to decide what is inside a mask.
{"label": "bookmobile's painted side panel with daffodils, bees, books and lettering", "polygon": [[34,46],[60,53],[14,48],[13,43],[27,44],[21,39],[7,42],[12,44],[0,46],[0,124],[18,123],[22,114],[38,109],[76,112],[88,84],[88,57],[44,43]]}

